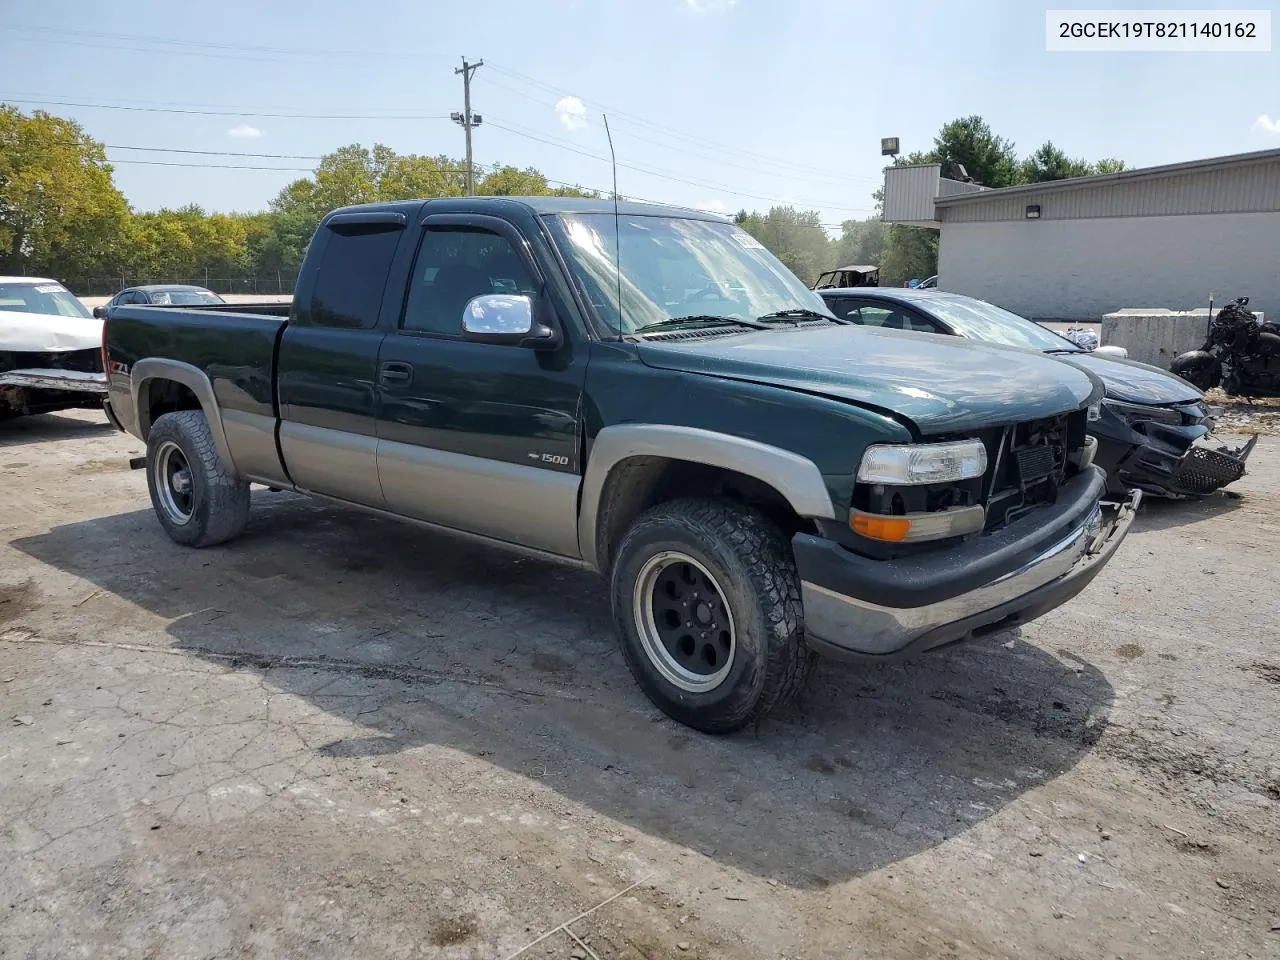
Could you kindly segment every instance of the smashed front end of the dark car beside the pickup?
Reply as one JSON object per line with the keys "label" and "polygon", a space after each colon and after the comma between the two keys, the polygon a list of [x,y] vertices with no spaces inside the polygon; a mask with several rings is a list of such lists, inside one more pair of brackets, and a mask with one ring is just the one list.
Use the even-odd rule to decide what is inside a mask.
{"label": "smashed front end of the dark car beside the pickup", "polygon": [[1203,401],[1170,404],[1106,399],[1091,424],[1098,439],[1097,463],[1114,488],[1185,499],[1235,483],[1257,436],[1231,447],[1212,434],[1212,411]]}

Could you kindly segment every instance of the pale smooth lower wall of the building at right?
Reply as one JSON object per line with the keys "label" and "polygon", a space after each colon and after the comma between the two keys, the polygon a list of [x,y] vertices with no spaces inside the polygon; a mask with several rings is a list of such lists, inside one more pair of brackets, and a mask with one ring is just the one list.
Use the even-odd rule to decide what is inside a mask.
{"label": "pale smooth lower wall of the building at right", "polygon": [[1039,320],[1235,297],[1280,315],[1280,212],[942,224],[938,288]]}

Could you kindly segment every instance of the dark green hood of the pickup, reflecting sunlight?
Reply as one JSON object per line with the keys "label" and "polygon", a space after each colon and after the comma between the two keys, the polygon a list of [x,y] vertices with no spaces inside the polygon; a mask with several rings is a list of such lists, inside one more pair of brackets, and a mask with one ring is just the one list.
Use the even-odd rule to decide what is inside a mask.
{"label": "dark green hood of the pickup, reflecting sunlight", "polygon": [[700,340],[643,340],[649,366],[852,401],[923,434],[1036,420],[1101,398],[1080,367],[1034,351],[865,326],[782,328]]}

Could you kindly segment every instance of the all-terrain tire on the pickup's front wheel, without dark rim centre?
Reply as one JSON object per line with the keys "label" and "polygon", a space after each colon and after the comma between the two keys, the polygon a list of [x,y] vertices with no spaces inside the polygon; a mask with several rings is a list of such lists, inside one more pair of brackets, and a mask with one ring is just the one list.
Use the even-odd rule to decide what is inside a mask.
{"label": "all-terrain tire on the pickup's front wheel, without dark rim centre", "polygon": [[[680,557],[692,561],[684,564],[685,573],[694,575],[689,582],[696,580],[695,586],[714,589],[721,598],[716,603],[731,616],[731,654],[727,667],[716,664],[723,678],[710,689],[673,682],[672,660],[664,660],[660,650],[654,653],[659,648],[653,637],[646,646],[643,636],[646,604],[653,621],[659,616],[653,599],[658,595],[658,581],[646,593],[644,584],[650,576],[646,571],[659,563],[680,570]],[[732,733],[787,703],[804,687],[813,658],[804,643],[795,558],[782,531],[756,511],[735,500],[703,498],[650,508],[622,538],[611,588],[613,618],[627,666],[640,689],[668,717],[707,733]],[[659,602],[667,603],[664,598]],[[681,627],[677,625],[675,630]],[[692,643],[709,645],[707,640]],[[716,663],[716,649],[698,649]],[[692,648],[689,655],[694,657]],[[694,666],[703,664],[695,659]]]}

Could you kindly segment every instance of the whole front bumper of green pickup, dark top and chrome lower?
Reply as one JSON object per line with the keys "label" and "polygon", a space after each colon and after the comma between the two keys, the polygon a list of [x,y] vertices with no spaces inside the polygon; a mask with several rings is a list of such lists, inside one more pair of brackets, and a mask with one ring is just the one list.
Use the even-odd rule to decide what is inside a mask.
{"label": "whole front bumper of green pickup, dark top and chrome lower", "polygon": [[1102,485],[1091,468],[1057,504],[933,556],[874,561],[797,534],[809,644],[840,659],[896,659],[1048,613],[1089,585],[1133,524],[1142,492],[1100,503]]}

